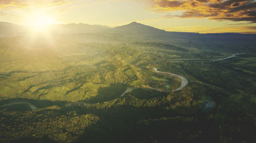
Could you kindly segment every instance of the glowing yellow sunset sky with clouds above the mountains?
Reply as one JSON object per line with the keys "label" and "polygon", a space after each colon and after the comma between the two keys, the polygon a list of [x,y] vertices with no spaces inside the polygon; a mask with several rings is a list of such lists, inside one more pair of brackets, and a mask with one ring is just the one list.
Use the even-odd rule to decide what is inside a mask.
{"label": "glowing yellow sunset sky with clouds above the mountains", "polygon": [[136,21],[165,31],[256,34],[256,0],[0,0],[0,21],[111,27]]}

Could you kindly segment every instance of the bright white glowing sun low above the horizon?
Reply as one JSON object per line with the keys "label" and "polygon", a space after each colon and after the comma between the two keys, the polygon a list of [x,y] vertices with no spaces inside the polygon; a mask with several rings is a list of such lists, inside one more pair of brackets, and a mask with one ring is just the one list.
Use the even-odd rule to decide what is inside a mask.
{"label": "bright white glowing sun low above the horizon", "polygon": [[31,27],[33,31],[46,31],[52,24],[57,24],[56,20],[46,14],[32,14],[27,16],[24,23]]}

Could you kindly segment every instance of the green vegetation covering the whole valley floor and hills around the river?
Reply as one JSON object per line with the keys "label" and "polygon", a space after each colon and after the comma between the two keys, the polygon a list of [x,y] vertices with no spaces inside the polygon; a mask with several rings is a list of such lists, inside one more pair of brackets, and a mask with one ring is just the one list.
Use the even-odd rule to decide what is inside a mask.
{"label": "green vegetation covering the whole valley floor and hills around the river", "polygon": [[[52,44],[0,38],[0,106],[38,107],[0,107],[0,142],[254,143],[254,44],[189,41],[106,33],[56,35]],[[153,67],[188,84],[172,92],[181,80]],[[134,90],[120,97],[127,88]]]}

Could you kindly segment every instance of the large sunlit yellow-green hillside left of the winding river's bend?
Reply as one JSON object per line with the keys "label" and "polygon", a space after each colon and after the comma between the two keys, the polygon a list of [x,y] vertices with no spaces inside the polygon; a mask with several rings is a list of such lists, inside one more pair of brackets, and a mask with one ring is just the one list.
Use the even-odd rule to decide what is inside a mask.
{"label": "large sunlit yellow-green hillside left of the winding river's bend", "polygon": [[[86,43],[73,37],[48,43],[43,38],[26,40],[1,39],[1,99],[101,102],[119,97],[127,87],[164,88],[158,79],[167,79],[148,66],[159,58],[157,52],[143,46]],[[180,82],[166,81],[174,83],[169,90]]]}

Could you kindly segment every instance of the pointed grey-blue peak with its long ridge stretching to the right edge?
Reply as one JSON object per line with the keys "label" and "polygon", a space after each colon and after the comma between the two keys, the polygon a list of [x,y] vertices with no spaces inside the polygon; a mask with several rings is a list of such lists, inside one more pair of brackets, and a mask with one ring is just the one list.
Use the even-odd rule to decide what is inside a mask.
{"label": "pointed grey-blue peak with its long ridge stretching to the right edge", "polygon": [[172,39],[178,40],[200,40],[205,41],[208,39],[215,39],[217,41],[227,41],[237,39],[250,39],[256,38],[256,35],[240,34],[240,33],[210,33],[210,34],[199,34],[199,33],[187,33],[187,32],[167,32],[158,28],[132,22],[127,25],[122,25],[106,30],[108,33],[116,34],[119,37],[139,38],[147,40],[160,40],[170,41]]}

